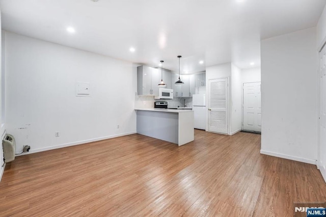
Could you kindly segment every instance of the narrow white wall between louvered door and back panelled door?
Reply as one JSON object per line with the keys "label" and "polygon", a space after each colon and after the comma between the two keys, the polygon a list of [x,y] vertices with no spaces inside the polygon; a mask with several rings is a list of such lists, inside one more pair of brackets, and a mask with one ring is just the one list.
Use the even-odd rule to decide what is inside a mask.
{"label": "narrow white wall between louvered door and back panelled door", "polygon": [[241,130],[242,123],[241,70],[231,64],[231,134]]}

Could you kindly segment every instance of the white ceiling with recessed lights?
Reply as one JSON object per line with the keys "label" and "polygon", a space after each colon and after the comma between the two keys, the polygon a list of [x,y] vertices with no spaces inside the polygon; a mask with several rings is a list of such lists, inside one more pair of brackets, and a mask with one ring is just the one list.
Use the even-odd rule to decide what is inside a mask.
{"label": "white ceiling with recessed lights", "polygon": [[181,55],[183,74],[226,62],[260,66],[261,39],[316,26],[325,3],[5,0],[0,7],[6,31],[153,67],[164,60],[172,71]]}

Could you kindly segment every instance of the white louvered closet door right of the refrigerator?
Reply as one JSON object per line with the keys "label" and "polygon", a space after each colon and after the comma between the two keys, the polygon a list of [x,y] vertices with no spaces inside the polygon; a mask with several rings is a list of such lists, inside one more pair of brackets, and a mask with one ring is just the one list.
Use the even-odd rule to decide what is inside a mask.
{"label": "white louvered closet door right of the refrigerator", "polygon": [[228,78],[209,80],[209,131],[228,133]]}

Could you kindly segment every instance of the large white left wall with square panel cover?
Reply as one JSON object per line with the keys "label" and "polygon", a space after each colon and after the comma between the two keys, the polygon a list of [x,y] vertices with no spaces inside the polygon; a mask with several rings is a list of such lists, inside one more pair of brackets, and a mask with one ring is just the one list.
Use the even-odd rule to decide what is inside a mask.
{"label": "large white left wall with square panel cover", "polygon": [[[134,133],[132,64],[6,32],[6,122],[17,152]],[[76,82],[90,97],[76,97]],[[117,128],[117,125],[120,128]],[[55,132],[60,137],[55,137]]]}

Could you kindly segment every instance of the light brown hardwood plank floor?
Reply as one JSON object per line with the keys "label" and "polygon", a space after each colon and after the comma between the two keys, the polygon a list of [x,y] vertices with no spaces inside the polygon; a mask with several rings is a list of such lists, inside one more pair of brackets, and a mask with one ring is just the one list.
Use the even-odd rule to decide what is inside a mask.
{"label": "light brown hardwood plank floor", "polygon": [[293,216],[326,201],[316,166],[259,150],[258,134],[195,130],[180,147],[132,134],[19,156],[0,216]]}

